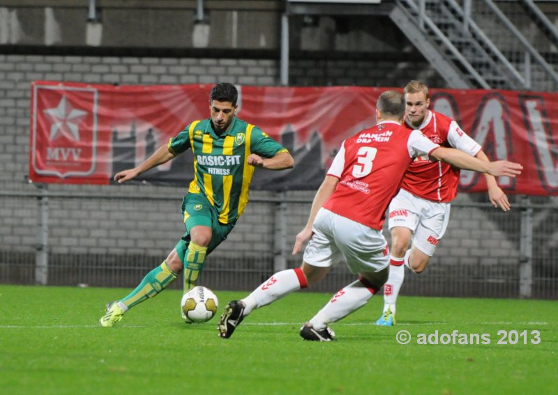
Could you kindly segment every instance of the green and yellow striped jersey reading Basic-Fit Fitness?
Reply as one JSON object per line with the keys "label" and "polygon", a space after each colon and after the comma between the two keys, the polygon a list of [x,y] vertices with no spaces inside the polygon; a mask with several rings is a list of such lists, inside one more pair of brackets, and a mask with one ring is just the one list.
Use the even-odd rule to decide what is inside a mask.
{"label": "green and yellow striped jersey reading Basic-Fit Fitness", "polygon": [[219,222],[235,222],[248,203],[248,187],[254,166],[246,163],[250,154],[273,157],[287,152],[254,125],[234,117],[229,130],[218,136],[211,120],[194,121],[170,139],[169,151],[174,155],[188,148],[194,155],[194,180],[188,192],[204,194],[219,212]]}

